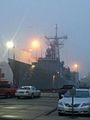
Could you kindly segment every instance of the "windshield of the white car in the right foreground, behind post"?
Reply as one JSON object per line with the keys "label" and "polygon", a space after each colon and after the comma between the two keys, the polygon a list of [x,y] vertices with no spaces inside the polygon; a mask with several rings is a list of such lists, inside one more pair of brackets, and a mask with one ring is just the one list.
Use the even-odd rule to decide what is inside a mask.
{"label": "windshield of the white car in the right foreground, behind post", "polygon": [[[68,91],[64,95],[64,97],[71,97],[70,91]],[[89,92],[88,91],[76,91],[75,97],[76,98],[87,98],[87,97],[90,97],[90,96],[89,96]]]}

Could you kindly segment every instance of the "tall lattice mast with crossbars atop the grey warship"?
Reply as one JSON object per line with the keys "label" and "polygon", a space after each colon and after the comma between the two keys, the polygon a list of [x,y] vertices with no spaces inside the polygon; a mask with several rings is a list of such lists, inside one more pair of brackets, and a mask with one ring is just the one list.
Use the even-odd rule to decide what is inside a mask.
{"label": "tall lattice mast with crossbars atop the grey warship", "polygon": [[[58,27],[56,24],[56,33],[55,33],[55,37],[45,37],[47,40],[49,40],[50,42],[50,49],[49,49],[49,53],[51,53],[51,55],[49,57],[51,57],[52,59],[58,59],[60,61],[60,47],[62,45],[64,45],[64,39],[67,39],[67,36],[62,36],[62,37],[58,37],[57,32],[58,32]],[[47,53],[48,54],[48,53]]]}

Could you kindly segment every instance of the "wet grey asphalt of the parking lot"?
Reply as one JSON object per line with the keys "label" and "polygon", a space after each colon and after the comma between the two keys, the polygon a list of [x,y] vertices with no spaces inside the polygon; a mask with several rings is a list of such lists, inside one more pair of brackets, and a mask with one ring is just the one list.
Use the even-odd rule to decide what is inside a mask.
{"label": "wet grey asphalt of the parking lot", "polygon": [[58,116],[57,114],[58,95],[49,93],[42,94],[40,98],[0,99],[0,120],[89,120],[89,116]]}

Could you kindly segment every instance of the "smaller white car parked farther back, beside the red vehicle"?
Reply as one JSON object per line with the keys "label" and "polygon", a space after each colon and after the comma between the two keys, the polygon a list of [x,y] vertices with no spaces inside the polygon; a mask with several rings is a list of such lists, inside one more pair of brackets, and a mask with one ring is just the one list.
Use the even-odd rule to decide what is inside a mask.
{"label": "smaller white car parked farther back, beside the red vehicle", "polygon": [[40,90],[37,90],[34,86],[22,86],[19,89],[17,89],[15,96],[17,98],[22,97],[40,97],[41,92]]}

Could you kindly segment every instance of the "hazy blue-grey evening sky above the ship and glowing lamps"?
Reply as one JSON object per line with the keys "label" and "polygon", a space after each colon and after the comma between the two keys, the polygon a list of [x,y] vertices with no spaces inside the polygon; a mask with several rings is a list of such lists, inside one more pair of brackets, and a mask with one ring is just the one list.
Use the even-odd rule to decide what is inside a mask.
{"label": "hazy blue-grey evening sky above the ship and glowing lamps", "polygon": [[55,35],[55,24],[59,36],[68,36],[61,60],[66,66],[77,63],[80,76],[90,72],[90,0],[0,0],[0,60],[11,39],[18,49],[28,49],[39,38],[45,48],[44,36]]}

